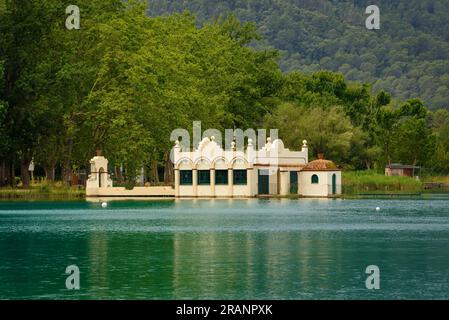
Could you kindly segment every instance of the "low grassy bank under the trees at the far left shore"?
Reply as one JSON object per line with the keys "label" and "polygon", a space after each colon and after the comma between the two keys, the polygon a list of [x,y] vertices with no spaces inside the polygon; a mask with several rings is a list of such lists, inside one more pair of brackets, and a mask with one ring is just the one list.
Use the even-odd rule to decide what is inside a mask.
{"label": "low grassy bank under the trees at the far left shore", "polygon": [[83,187],[68,187],[60,182],[41,182],[27,189],[0,188],[0,199],[79,199],[85,194]]}

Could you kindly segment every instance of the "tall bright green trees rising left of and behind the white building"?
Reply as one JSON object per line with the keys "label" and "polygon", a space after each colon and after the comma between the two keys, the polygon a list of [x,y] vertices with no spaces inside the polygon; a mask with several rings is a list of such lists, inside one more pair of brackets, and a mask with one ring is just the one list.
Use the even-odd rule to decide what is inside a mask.
{"label": "tall bright green trees rising left of and behind the white building", "polygon": [[[247,47],[254,26],[232,17],[198,28],[189,14],[150,19],[142,1],[86,0],[81,29],[69,31],[63,4],[7,5],[1,128],[13,143],[0,160],[35,156],[67,178],[103,149],[132,181],[167,158],[173,129],[261,125],[282,83],[277,53]],[[32,36],[23,51],[22,34]]]}

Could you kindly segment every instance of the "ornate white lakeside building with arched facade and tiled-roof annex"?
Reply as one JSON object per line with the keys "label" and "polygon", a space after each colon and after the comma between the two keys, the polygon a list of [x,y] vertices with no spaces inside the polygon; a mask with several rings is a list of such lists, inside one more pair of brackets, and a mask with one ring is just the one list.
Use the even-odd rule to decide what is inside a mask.
{"label": "ornate white lakeside building with arched facade and tiled-roof annex", "polygon": [[251,139],[246,150],[223,150],[214,137],[197,149],[174,148],[176,197],[253,197],[299,194],[328,197],[341,194],[341,171],[328,160],[308,162],[307,141],[290,151],[270,138],[261,150]]}

